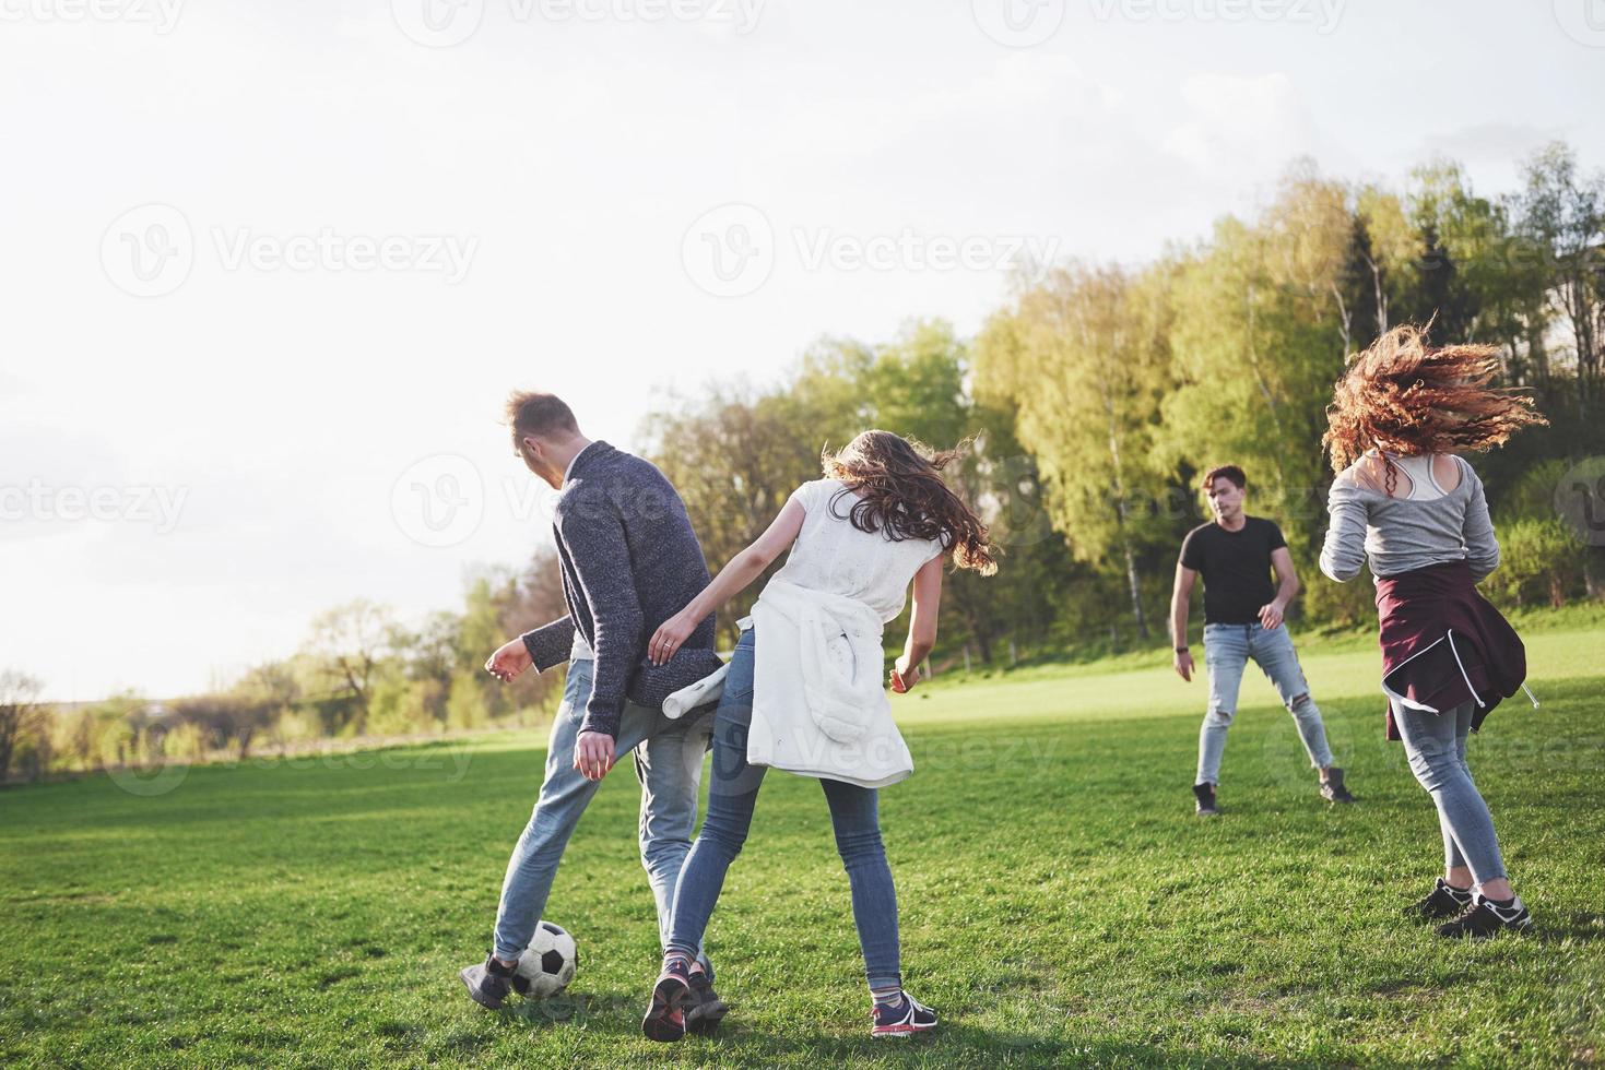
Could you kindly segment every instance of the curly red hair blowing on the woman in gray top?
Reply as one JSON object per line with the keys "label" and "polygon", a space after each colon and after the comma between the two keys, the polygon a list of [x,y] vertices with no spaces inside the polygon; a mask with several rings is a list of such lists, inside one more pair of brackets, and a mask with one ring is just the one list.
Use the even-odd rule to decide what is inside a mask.
{"label": "curly red hair blowing on the woman in gray top", "polygon": [[1531,398],[1488,385],[1499,372],[1497,356],[1491,345],[1432,347],[1427,327],[1411,324],[1350,356],[1326,407],[1321,436],[1332,452],[1332,472],[1343,472],[1377,446],[1392,496],[1396,473],[1390,452],[1480,452],[1523,427],[1549,424]]}

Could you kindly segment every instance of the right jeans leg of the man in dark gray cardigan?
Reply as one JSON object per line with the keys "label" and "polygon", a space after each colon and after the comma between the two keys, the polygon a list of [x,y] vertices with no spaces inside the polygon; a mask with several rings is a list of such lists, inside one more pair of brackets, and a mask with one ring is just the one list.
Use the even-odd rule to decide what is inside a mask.
{"label": "right jeans leg of the man in dark gray cardigan", "polygon": [[674,886],[692,849],[701,762],[713,733],[713,709],[668,727],[636,748],[640,776],[640,865],[658,903],[658,937],[669,946]]}

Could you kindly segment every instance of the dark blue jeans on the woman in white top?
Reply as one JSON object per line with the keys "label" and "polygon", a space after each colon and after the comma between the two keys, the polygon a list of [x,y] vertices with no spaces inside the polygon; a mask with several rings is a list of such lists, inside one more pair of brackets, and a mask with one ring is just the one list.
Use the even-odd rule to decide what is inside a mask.
{"label": "dark blue jeans on the woman in white top", "polygon": [[[674,895],[674,922],[669,950],[695,954],[701,946],[708,918],[719,902],[724,874],[746,842],[753,805],[764,783],[762,765],[746,764],[746,733],[753,723],[753,632],[730,659],[724,698],[714,715],[713,781],[708,784],[708,818],[685,860],[681,887]],[[897,889],[881,844],[878,799],[873,788],[820,780],[830,820],[836,829],[836,850],[852,886],[852,919],[863,950],[863,972],[870,988],[902,985],[897,950]]]}

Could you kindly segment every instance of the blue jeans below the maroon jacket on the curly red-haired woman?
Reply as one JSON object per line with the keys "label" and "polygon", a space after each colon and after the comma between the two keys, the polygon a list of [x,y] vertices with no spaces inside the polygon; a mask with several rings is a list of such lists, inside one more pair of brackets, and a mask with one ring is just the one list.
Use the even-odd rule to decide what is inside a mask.
{"label": "blue jeans below the maroon jacket on the curly red-haired woman", "polygon": [[1465,764],[1465,736],[1475,711],[1477,703],[1472,701],[1441,714],[1408,709],[1393,701],[1393,723],[1404,738],[1411,772],[1438,807],[1443,865],[1451,869],[1467,866],[1478,884],[1486,884],[1505,876],[1505,871],[1494,818]]}

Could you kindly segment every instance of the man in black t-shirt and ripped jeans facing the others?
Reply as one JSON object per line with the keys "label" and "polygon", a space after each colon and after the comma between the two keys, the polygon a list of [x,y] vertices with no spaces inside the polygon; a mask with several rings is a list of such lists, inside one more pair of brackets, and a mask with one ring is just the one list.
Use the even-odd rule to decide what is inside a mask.
{"label": "man in black t-shirt and ripped jeans facing the others", "polygon": [[[1292,638],[1282,627],[1287,603],[1298,594],[1294,558],[1287,541],[1273,521],[1242,512],[1247,480],[1237,465],[1210,468],[1204,494],[1215,520],[1188,533],[1176,563],[1176,586],[1170,597],[1170,634],[1175,638],[1176,674],[1193,680],[1193,653],[1188,648],[1188,605],[1193,586],[1204,576],[1204,663],[1209,667],[1209,712],[1199,730],[1199,770],[1193,796],[1201,815],[1220,813],[1215,788],[1220,759],[1226,751],[1226,730],[1237,711],[1242,669],[1252,658],[1276,685],[1276,691],[1298,725],[1310,764],[1321,770],[1321,797],[1353,802],[1343,788],[1343,770],[1332,765],[1321,711],[1310,698],[1298,667]],[[1271,586],[1271,569],[1276,586]]]}

